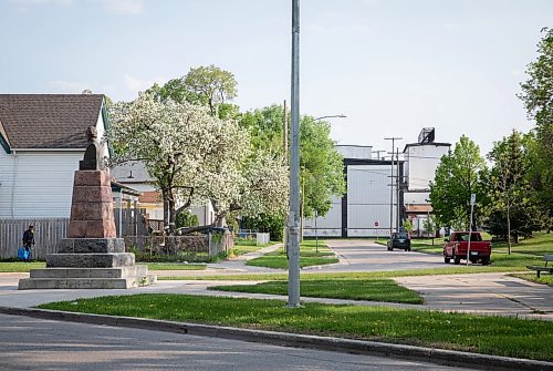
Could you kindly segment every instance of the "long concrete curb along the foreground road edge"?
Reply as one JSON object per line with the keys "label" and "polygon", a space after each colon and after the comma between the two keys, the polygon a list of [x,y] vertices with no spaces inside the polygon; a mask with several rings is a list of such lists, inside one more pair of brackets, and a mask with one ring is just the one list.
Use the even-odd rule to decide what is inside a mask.
{"label": "long concrete curb along the foreground road edge", "polygon": [[187,333],[200,337],[262,342],[267,344],[338,351],[355,354],[373,354],[417,360],[442,365],[469,367],[482,370],[553,371],[553,362],[510,357],[469,353],[453,350],[401,346],[376,341],[342,339],[275,331],[250,330],[231,327],[173,322],[132,317],[88,315],[35,308],[0,307],[0,313],[27,316],[48,320],[82,322],[143,330]]}

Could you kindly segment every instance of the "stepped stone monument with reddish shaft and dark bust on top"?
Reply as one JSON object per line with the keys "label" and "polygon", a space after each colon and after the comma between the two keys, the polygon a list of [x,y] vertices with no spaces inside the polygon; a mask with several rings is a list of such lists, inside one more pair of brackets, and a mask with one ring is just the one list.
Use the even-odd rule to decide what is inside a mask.
{"label": "stepped stone monument with reddish shaft and dark bust on top", "polygon": [[117,238],[112,187],[96,128],[86,131],[88,145],[73,182],[67,238],[58,254],[46,255],[46,268],[32,269],[19,289],[127,289],[155,282],[146,266],[136,266]]}

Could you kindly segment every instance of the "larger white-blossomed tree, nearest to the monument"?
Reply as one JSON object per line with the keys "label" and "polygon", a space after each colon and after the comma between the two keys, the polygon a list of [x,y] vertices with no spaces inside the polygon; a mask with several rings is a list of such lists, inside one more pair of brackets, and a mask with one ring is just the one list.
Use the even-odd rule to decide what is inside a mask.
{"label": "larger white-blossomed tree, nearest to the monument", "polygon": [[197,184],[211,175],[210,164],[225,161],[221,128],[237,125],[211,116],[207,107],[160,101],[152,94],[117,103],[109,113],[106,138],[115,152],[111,165],[144,162],[161,193],[164,221],[173,234],[177,214],[191,205]]}

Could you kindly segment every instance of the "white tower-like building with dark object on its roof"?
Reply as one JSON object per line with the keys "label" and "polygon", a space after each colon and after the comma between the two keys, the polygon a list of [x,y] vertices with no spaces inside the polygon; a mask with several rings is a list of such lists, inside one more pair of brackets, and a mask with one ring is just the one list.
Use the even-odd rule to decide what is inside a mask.
{"label": "white tower-like building with dark object on its roof", "polygon": [[414,234],[425,234],[424,221],[432,213],[429,202],[430,181],[434,181],[436,168],[441,156],[449,152],[450,143],[435,141],[434,127],[420,131],[417,143],[405,145],[404,192],[405,214],[413,221]]}

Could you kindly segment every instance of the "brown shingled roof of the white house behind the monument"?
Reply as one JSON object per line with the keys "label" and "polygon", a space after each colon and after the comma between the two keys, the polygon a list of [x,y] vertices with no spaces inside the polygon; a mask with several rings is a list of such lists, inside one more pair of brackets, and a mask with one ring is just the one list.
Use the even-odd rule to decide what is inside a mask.
{"label": "brown shingled roof of the white house behind the monument", "polygon": [[84,150],[102,94],[0,94],[0,135],[11,148]]}

